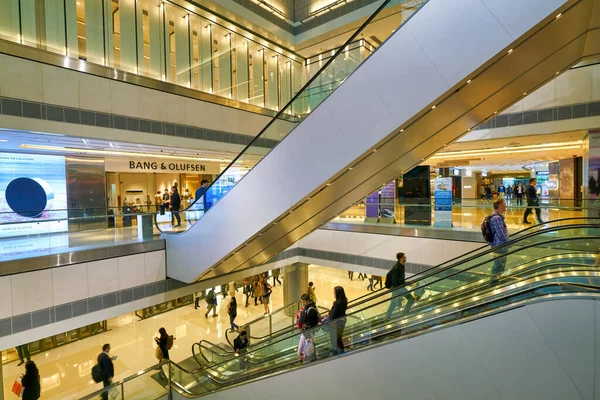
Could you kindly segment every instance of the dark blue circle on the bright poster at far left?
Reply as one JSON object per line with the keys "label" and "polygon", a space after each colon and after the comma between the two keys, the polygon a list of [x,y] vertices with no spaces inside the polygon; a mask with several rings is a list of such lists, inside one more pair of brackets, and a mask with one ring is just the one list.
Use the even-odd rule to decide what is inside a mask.
{"label": "dark blue circle on the bright poster at far left", "polygon": [[37,218],[52,205],[54,192],[48,182],[40,178],[16,178],[5,192],[11,210],[23,217]]}

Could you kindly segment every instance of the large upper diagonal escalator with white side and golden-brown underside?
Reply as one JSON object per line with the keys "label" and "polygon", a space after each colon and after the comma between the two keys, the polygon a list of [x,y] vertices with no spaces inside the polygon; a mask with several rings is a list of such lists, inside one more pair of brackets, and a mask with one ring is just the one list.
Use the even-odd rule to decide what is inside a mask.
{"label": "large upper diagonal escalator with white side and golden-brown underside", "polygon": [[[336,50],[185,212],[185,229],[159,226],[168,275],[192,282],[269,260],[596,53],[599,14],[596,0],[382,1],[346,43],[375,31],[385,42],[343,72],[346,46]],[[310,89],[340,74],[300,114]],[[257,160],[263,139],[279,144]]]}

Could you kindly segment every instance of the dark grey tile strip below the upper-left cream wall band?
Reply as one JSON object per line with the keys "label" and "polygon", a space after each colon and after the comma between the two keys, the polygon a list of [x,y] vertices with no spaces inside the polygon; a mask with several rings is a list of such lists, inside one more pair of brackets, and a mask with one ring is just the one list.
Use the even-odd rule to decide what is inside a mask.
{"label": "dark grey tile strip below the upper-left cream wall band", "polygon": [[[253,136],[242,135],[239,133],[169,124],[161,121],[132,118],[123,115],[62,107],[8,97],[0,97],[0,114],[96,126],[100,128],[122,129],[133,132],[153,133],[156,135],[178,136],[189,139],[239,144],[242,146],[248,145],[252,139],[254,139]],[[123,140],[127,140],[127,138],[124,137]],[[275,147],[277,143],[276,140],[258,138],[253,145],[270,149]]]}

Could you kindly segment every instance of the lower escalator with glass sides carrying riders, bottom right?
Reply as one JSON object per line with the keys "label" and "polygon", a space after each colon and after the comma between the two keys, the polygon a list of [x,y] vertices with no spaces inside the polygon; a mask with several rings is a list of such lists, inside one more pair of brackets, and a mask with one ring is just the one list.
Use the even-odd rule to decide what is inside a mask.
{"label": "lower escalator with glass sides carrying riders, bottom right", "polygon": [[[273,335],[269,340],[253,346],[243,356],[229,357],[229,352],[221,352],[225,350],[224,348],[210,349],[211,353],[220,353],[219,358],[207,360],[203,368],[192,373],[186,372],[175,363],[165,364],[164,373],[173,377],[172,388],[179,395],[187,398],[206,396],[223,389],[231,389],[227,392],[228,397],[235,396],[237,385],[241,383],[258,385],[257,388],[280,387],[278,394],[282,395],[284,390],[289,390],[289,387],[259,380],[266,377],[285,380],[286,375],[280,374],[296,369],[301,369],[305,376],[310,375],[312,379],[318,379],[317,376],[323,374],[323,368],[329,364],[322,361],[329,360],[335,362],[335,368],[344,371],[361,370],[357,367],[356,359],[368,358],[370,354],[363,350],[378,350],[382,347],[390,348],[386,351],[395,352],[395,346],[402,346],[405,349],[406,341],[427,342],[430,335],[436,335],[442,330],[447,334],[448,330],[456,330],[457,327],[465,329],[461,328],[463,325],[477,324],[481,331],[486,332],[491,328],[507,332],[519,330],[521,328],[518,326],[498,325],[495,321],[497,318],[513,318],[505,317],[504,314],[517,313],[517,316],[522,317],[523,312],[519,311],[522,308],[533,307],[537,310],[536,307],[550,300],[596,301],[600,294],[598,290],[600,272],[595,265],[598,248],[600,248],[600,235],[598,235],[597,221],[582,222],[555,225],[546,230],[535,230],[522,235],[507,245],[508,252],[505,255],[498,255],[498,249],[488,248],[480,251],[477,256],[466,257],[436,271],[430,271],[413,281],[412,285],[407,284],[407,288],[410,287],[408,294],[413,293],[417,287],[424,289],[425,293],[415,301],[409,311],[398,308],[394,309],[389,317],[387,316],[391,301],[408,295],[397,291],[380,291],[368,299],[356,302],[349,307],[346,316],[344,342],[347,354],[343,357],[332,357],[330,337],[327,332],[331,328],[329,324],[324,324],[312,332],[317,361],[307,366],[302,365],[296,355],[301,333],[294,330]],[[490,271],[497,262],[505,265],[506,273],[500,276],[497,282],[492,283]],[[544,313],[544,315],[551,315],[552,318],[559,317],[549,311]],[[580,310],[574,308],[565,314],[577,315],[578,313]],[[592,313],[595,313],[593,308]],[[589,317],[584,314],[582,316]],[[565,318],[570,317],[571,315],[565,316]],[[487,326],[488,323],[492,326]],[[600,319],[597,324],[600,324]],[[571,334],[573,337],[578,337],[581,333],[574,331]],[[566,339],[570,342],[573,337]],[[516,343],[513,345],[520,346],[521,339],[522,337],[515,337]],[[494,343],[491,342],[490,345],[493,346]],[[503,360],[504,350],[511,352],[510,349],[498,349],[496,355],[498,360]],[[428,348],[424,347],[424,351],[427,353]],[[446,351],[452,353],[453,350]],[[371,363],[369,365],[372,365],[372,361],[369,361]],[[494,361],[490,363],[494,364]],[[287,380],[295,379],[296,375],[293,375],[294,378],[288,377]],[[553,378],[549,377],[549,379]],[[254,380],[258,382],[253,382]],[[360,385],[360,382],[355,384]],[[248,389],[248,385],[244,385],[244,388],[250,392],[258,390]],[[557,393],[564,393],[564,391]],[[529,397],[560,398],[552,396],[521,398]]]}

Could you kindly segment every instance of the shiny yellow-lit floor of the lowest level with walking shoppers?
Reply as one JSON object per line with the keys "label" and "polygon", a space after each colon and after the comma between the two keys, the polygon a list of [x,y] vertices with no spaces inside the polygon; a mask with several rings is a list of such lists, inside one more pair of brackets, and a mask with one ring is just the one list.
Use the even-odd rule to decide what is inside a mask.
{"label": "shiny yellow-lit floor of the lowest level with walking shoppers", "polygon": [[[326,308],[331,307],[333,303],[335,286],[343,286],[349,299],[367,293],[368,280],[358,280],[357,276],[358,274],[355,273],[354,281],[350,281],[347,271],[314,265],[309,267],[309,279],[315,283],[319,305]],[[283,282],[286,277],[283,275],[279,279]],[[245,296],[241,288],[236,294],[236,299],[237,324],[243,324],[263,315],[264,310],[260,303],[254,306],[251,300],[250,306],[244,307]],[[229,327],[229,317],[226,312],[228,299],[223,299],[219,295],[218,301],[218,317],[204,318],[206,312],[204,302],[201,303],[202,308],[198,310],[194,310],[194,306],[190,305],[145,320],[139,320],[134,313],[130,313],[109,320],[108,332],[33,356],[32,360],[38,365],[42,377],[42,399],[75,399],[100,389],[102,384],[94,383],[91,379],[91,368],[104,343],[110,343],[111,354],[118,356],[115,361],[115,379],[120,380],[156,363],[153,338],[160,327],[165,327],[169,334],[176,337],[170,352],[171,359],[176,362],[190,357],[192,344],[201,339],[214,343],[225,341],[225,330]],[[274,287],[271,306],[272,309],[283,306],[283,290],[279,284]],[[14,396],[10,389],[17,376],[23,371],[24,366],[18,367],[17,362],[3,366],[6,399]],[[161,388],[158,383],[152,381],[152,384],[148,385],[156,385],[156,391],[160,393]],[[148,385],[139,387],[139,390],[148,391],[151,389]],[[148,398],[143,393],[130,393],[136,390],[135,387],[134,385],[126,387],[126,398],[132,398],[132,394],[135,398]]]}

